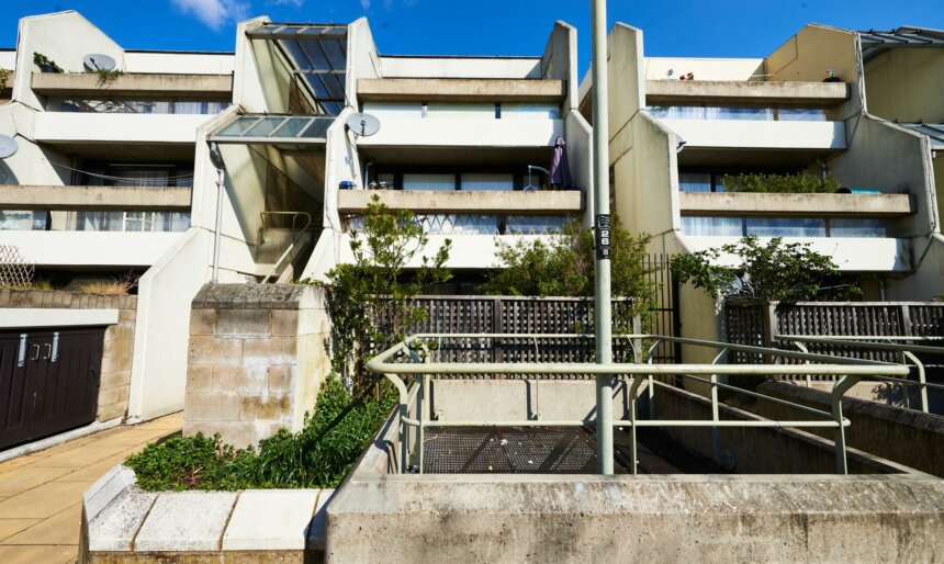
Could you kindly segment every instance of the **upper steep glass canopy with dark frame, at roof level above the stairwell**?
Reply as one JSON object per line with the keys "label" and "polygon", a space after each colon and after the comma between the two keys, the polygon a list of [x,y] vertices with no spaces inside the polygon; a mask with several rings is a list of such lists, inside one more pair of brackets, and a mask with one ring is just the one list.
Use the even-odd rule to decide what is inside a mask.
{"label": "upper steep glass canopy with dark frame, at roof level above the stairwell", "polygon": [[347,25],[267,23],[247,35],[274,42],[289,70],[324,113],[341,112],[346,100]]}

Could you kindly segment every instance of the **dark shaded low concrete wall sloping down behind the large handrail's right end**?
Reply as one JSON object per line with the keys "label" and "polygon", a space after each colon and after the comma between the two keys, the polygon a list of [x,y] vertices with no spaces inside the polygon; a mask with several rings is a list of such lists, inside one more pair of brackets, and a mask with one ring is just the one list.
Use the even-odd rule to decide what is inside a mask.
{"label": "dark shaded low concrete wall sloping down behind the large handrail's right end", "polygon": [[[757,392],[817,409],[828,410],[830,405],[827,392],[786,382],[766,382]],[[845,398],[842,407],[852,422],[845,431],[846,444],[944,477],[944,417],[856,398]],[[764,399],[757,401],[755,409],[776,419],[809,418],[799,409]],[[824,437],[830,432],[810,431]]]}

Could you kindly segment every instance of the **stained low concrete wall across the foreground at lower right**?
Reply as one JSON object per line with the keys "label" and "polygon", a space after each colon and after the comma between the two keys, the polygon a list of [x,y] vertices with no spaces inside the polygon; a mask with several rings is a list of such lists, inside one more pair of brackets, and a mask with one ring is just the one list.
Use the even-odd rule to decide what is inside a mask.
{"label": "stained low concrete wall across the foreground at lower right", "polygon": [[326,562],[944,559],[924,474],[391,475],[396,441],[389,421],[331,499]]}

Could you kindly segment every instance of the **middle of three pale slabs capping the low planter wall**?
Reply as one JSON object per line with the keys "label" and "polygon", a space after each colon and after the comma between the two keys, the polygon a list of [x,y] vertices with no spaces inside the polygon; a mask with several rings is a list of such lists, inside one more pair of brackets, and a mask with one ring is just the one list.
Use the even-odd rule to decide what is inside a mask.
{"label": "middle of three pale slabs capping the low planter wall", "polygon": [[223,530],[237,494],[232,492],[170,492],[158,494],[135,550],[192,552],[220,550]]}

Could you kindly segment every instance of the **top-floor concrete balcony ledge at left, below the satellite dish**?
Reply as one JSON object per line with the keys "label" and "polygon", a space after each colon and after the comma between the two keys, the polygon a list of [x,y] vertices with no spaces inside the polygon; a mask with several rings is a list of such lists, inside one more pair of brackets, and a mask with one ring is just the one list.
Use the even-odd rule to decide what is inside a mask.
{"label": "top-floor concrete balcony ledge at left, below the satellite dish", "polygon": [[233,92],[232,75],[146,75],[125,74],[113,82],[100,84],[95,74],[34,72],[31,79],[34,92],[44,95],[104,95],[109,97],[181,97],[225,98]]}

